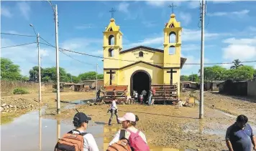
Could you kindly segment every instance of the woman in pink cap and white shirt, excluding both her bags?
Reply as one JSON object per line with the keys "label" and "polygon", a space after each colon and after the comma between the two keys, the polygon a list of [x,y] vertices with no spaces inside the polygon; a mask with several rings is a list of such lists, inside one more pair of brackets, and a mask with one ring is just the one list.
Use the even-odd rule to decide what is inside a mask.
{"label": "woman in pink cap and white shirt, excluding both her bags", "polygon": [[[136,122],[139,121],[139,117],[137,117],[137,115],[134,115],[133,113],[131,112],[128,112],[124,115],[124,117],[119,117],[118,118],[119,121],[122,121],[122,128],[125,131],[125,135],[124,137],[129,140],[129,136],[131,135],[130,132],[138,132],[137,128],[135,128],[135,125],[136,125]],[[129,132],[130,131],[130,132]],[[121,130],[119,130],[116,135],[114,135],[114,139],[111,140],[111,142],[109,142],[109,145],[112,145],[114,144],[115,142],[118,142],[119,141],[119,137],[120,137],[120,133],[121,133]],[[139,132],[139,135],[140,137],[142,137],[142,140],[144,140],[146,143],[147,143],[147,140],[146,140],[146,137],[145,135],[143,134],[143,132]]]}

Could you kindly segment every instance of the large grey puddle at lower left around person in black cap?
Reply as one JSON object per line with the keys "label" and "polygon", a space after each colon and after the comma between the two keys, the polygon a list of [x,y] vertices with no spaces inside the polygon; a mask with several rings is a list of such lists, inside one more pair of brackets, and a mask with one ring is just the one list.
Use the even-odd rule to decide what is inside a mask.
{"label": "large grey puddle at lower left around person in black cap", "polygon": [[[88,125],[90,132],[102,150],[103,125]],[[1,150],[42,151],[53,150],[58,137],[73,130],[73,125],[61,123],[57,120],[43,119],[39,112],[29,112],[7,125],[1,125]]]}

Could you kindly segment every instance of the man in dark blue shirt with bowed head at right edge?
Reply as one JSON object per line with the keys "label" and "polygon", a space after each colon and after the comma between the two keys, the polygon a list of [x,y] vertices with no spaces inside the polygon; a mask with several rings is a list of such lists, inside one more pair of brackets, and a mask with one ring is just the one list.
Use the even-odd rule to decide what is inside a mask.
{"label": "man in dark blue shirt with bowed head at right edge", "polygon": [[239,115],[237,121],[227,129],[226,143],[229,151],[251,151],[252,145],[253,150],[256,150],[256,139],[247,122],[245,115]]}

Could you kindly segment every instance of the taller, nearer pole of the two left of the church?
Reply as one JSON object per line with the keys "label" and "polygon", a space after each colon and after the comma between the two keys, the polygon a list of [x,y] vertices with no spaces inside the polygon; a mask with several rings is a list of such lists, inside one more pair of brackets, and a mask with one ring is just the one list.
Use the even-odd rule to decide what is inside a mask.
{"label": "taller, nearer pole of the two left of the church", "polygon": [[60,71],[59,71],[58,9],[57,9],[57,5],[55,5],[55,43],[56,43],[56,74],[57,74],[57,114],[60,114]]}

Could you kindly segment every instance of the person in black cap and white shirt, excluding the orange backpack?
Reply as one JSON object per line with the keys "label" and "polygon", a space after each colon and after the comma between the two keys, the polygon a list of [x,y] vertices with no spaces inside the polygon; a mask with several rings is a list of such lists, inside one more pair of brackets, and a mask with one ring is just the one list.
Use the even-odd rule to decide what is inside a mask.
{"label": "person in black cap and white shirt, excluding the orange backpack", "polygon": [[[73,118],[73,124],[76,127],[76,130],[72,130],[72,133],[79,134],[86,132],[89,120],[91,120],[91,117],[88,117],[83,112],[76,113]],[[93,135],[87,133],[86,135],[83,135],[83,139],[83,151],[99,151]]]}

